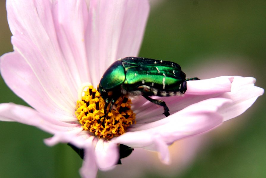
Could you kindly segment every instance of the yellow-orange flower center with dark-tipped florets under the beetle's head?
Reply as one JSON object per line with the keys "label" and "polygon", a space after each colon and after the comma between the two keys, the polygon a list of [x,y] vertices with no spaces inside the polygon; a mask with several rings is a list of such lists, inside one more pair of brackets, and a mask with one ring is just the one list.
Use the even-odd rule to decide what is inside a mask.
{"label": "yellow-orange flower center with dark-tipped florets under the beetle's head", "polygon": [[[108,112],[104,118],[105,102],[100,93],[93,86],[89,86],[84,93],[82,99],[77,101],[75,111],[84,130],[94,133],[98,138],[109,140],[114,136],[124,134],[128,126],[136,123],[136,114],[131,109],[129,98],[119,97],[111,112]],[[109,111],[109,106],[107,111]]]}

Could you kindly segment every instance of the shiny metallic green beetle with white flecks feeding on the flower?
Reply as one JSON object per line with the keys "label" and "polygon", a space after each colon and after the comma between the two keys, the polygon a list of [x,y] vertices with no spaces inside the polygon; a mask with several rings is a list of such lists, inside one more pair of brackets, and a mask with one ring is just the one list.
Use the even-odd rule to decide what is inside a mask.
{"label": "shiny metallic green beetle with white flecks feeding on the flower", "polygon": [[125,95],[142,95],[150,102],[163,106],[163,114],[167,117],[170,113],[166,103],[150,96],[182,95],[187,90],[187,81],[200,80],[185,77],[180,65],[174,62],[138,57],[119,59],[111,64],[99,83],[98,90],[105,100],[105,117],[116,100]]}

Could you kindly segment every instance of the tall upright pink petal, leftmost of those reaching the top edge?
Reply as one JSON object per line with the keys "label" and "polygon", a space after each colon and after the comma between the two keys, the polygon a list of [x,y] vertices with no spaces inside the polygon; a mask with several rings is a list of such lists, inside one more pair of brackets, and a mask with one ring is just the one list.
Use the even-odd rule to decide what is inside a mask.
{"label": "tall upright pink petal, leftmost of those reaching the top edge", "polygon": [[7,13],[15,51],[29,65],[46,95],[68,110],[73,108],[78,86],[57,42],[50,1],[7,1]]}

